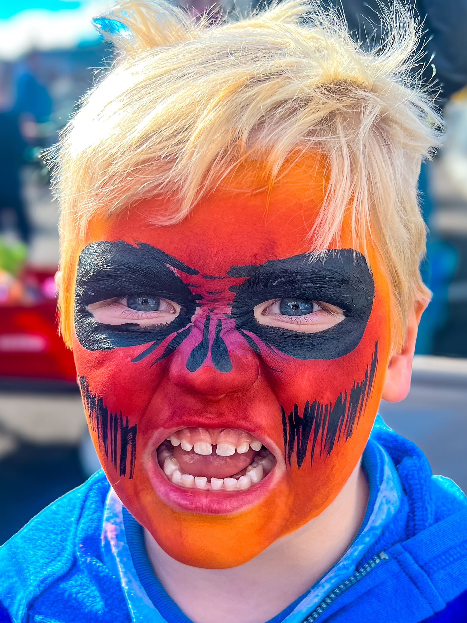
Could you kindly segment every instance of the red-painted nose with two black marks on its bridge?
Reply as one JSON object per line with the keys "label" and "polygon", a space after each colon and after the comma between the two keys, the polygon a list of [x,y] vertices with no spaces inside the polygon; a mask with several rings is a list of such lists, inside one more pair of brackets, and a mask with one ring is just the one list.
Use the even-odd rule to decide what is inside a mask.
{"label": "red-painted nose with two black marks on its bridge", "polygon": [[223,329],[222,320],[207,315],[201,340],[184,341],[172,355],[169,376],[179,388],[219,397],[248,391],[259,372],[257,357],[235,328]]}

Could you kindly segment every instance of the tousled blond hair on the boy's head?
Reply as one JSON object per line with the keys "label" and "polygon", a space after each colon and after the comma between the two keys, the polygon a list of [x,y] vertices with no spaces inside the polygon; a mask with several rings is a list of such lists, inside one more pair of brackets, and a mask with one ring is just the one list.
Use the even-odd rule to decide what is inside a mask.
{"label": "tousled blond hair on the boy's head", "polygon": [[118,55],[65,128],[55,166],[68,345],[90,219],[164,194],[171,206],[153,221],[173,224],[245,160],[260,155],[271,186],[287,158],[317,151],[328,186],[310,250],[338,240],[350,212],[356,244],[371,236],[384,260],[399,348],[410,309],[428,297],[417,179],[439,119],[408,82],[412,15],[397,5],[385,21],[387,42],[366,52],[337,14],[303,0],[215,24],[163,0],[128,0],[97,20]]}

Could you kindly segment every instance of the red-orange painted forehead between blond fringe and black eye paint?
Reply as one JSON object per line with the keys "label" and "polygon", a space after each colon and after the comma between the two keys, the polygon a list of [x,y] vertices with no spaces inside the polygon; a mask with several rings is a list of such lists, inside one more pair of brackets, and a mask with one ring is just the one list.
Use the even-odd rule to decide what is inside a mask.
{"label": "red-orange painted forehead between blond fringe and black eye paint", "polygon": [[[261,177],[260,163],[246,164],[171,226],[151,224],[169,200],[140,201],[128,212],[95,222],[92,241],[145,242],[210,274],[307,252],[308,234],[324,200],[323,163],[302,158],[271,188]],[[260,184],[263,188],[255,189]]]}

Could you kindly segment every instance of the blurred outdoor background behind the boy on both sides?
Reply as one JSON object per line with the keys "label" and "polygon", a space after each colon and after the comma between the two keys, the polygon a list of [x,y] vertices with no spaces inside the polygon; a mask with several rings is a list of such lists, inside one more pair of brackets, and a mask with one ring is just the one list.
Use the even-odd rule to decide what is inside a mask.
{"label": "blurred outdoor background behind the boy on both sides", "polygon": [[[422,270],[433,300],[410,394],[382,402],[380,412],[423,449],[434,473],[467,492],[467,0],[442,2],[415,0],[425,20],[418,79],[432,85],[446,123],[445,144],[419,184],[430,231]],[[108,6],[0,4],[0,543],[99,467],[73,357],[57,335],[58,207],[41,155],[111,62],[91,22]],[[377,45],[376,2],[342,7],[356,39]],[[187,6],[194,17],[205,8],[202,0]]]}

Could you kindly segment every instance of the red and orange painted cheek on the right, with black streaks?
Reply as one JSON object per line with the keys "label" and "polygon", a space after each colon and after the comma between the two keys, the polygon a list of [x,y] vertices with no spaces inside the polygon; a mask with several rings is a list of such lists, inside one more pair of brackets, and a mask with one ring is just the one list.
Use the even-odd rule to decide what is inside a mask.
{"label": "red and orange painted cheek on the right, with black streaks", "polygon": [[293,530],[336,497],[365,448],[389,359],[387,302],[375,298],[364,336],[339,359],[276,360],[270,383],[281,404]]}

